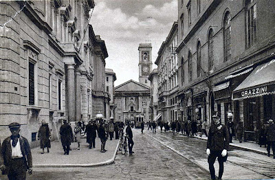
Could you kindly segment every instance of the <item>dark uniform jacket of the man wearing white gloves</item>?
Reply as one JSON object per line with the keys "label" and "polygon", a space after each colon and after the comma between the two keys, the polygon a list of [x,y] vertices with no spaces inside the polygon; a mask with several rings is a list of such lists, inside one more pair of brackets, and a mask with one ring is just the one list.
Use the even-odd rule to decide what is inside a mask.
{"label": "dark uniform jacket of the man wearing white gloves", "polygon": [[207,148],[210,150],[229,149],[229,133],[226,126],[214,124],[210,127]]}

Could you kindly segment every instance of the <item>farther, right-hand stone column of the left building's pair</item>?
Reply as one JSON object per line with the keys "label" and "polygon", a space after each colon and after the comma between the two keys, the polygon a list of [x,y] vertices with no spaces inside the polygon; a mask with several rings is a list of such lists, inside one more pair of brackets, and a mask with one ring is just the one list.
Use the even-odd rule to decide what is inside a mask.
{"label": "farther, right-hand stone column of the left building's pair", "polygon": [[81,120],[81,85],[80,71],[76,70],[76,121]]}

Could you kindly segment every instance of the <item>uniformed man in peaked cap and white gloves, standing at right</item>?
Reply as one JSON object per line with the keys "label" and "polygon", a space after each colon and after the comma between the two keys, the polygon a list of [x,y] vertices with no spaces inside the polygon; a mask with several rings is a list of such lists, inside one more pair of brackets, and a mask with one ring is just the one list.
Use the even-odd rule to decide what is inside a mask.
{"label": "uniformed man in peaked cap and white gloves, standing at right", "polygon": [[214,124],[210,126],[208,133],[207,149],[208,164],[211,179],[216,179],[214,171],[214,161],[218,157],[219,161],[219,179],[223,176],[223,162],[228,157],[229,133],[228,128],[221,124],[219,116],[212,116]]}

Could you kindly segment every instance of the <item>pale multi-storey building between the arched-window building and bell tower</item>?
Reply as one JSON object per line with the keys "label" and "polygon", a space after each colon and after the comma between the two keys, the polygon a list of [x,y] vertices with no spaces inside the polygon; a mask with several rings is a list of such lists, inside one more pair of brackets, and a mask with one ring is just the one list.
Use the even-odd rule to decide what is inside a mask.
{"label": "pale multi-storey building between the arched-window building and bell tower", "polygon": [[166,41],[159,48],[157,60],[157,77],[158,77],[158,110],[162,113],[164,122],[172,122],[177,120],[177,91],[178,86],[178,64],[177,54],[177,22],[173,23],[173,27],[168,34]]}

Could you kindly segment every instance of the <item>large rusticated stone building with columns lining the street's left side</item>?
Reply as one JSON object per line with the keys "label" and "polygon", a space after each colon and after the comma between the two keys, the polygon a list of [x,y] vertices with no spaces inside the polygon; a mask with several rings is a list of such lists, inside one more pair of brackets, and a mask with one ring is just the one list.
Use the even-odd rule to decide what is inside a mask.
{"label": "large rusticated stone building with columns lining the street's left side", "polygon": [[91,25],[86,28],[94,5],[94,0],[0,1],[1,139],[17,121],[34,145],[43,119],[58,138],[62,119],[89,120],[104,111],[109,96],[96,85],[105,82],[107,49]]}

